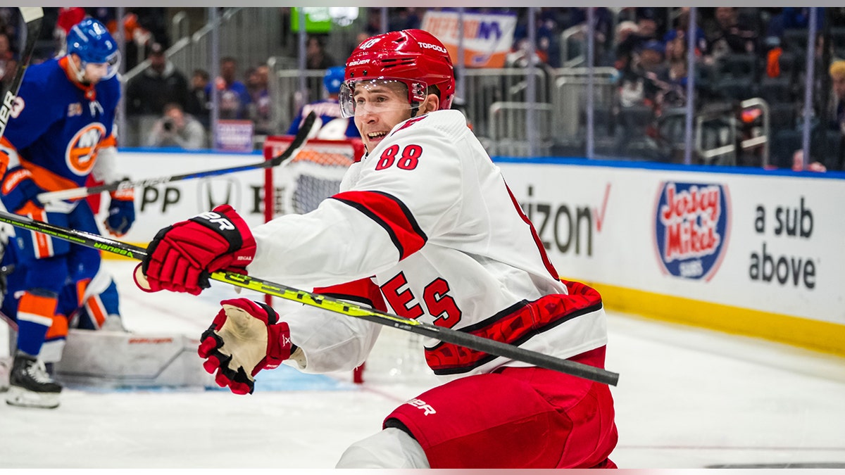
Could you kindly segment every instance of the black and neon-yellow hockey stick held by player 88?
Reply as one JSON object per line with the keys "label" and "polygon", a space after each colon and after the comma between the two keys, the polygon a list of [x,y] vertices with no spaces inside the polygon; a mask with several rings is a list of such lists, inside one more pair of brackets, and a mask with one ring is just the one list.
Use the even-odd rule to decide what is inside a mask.
{"label": "black and neon-yellow hockey stick held by player 88", "polygon": [[[0,222],[5,222],[16,227],[22,227],[30,231],[43,232],[55,238],[64,239],[71,243],[101,249],[109,253],[120,254],[132,259],[142,260],[147,256],[147,250],[123,243],[90,232],[83,232],[74,229],[58,227],[46,222],[35,221],[27,216],[19,216],[0,211]],[[532,352],[525,348],[515,347],[501,341],[491,340],[482,336],[472,335],[463,331],[450,328],[429,325],[417,320],[406,319],[399,315],[379,312],[373,308],[359,307],[353,303],[344,302],[339,299],[326,297],[319,293],[306,292],[293,287],[286,287],[269,281],[263,281],[255,277],[243,276],[232,272],[217,271],[211,274],[211,280],[226,282],[236,287],[242,287],[255,292],[265,293],[278,298],[284,298],[292,302],[304,303],[312,307],[323,308],[336,314],[346,315],[365,319],[379,325],[392,326],[399,330],[406,330],[417,335],[428,336],[439,341],[453,343],[478,352],[485,352],[488,355],[511,358],[523,363],[533,364],[546,369],[553,369],[564,374],[571,374],[580,378],[589,379],[605,385],[616,385],[619,381],[619,374],[612,373],[606,369],[596,368],[583,363],[554,358],[539,352]]]}

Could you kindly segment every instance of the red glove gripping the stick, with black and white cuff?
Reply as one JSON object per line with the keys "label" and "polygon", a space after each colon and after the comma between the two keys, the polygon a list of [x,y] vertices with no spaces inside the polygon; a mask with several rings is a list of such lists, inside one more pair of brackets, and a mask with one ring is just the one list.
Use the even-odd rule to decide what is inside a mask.
{"label": "red glove gripping the stick, with black and white cuff", "polygon": [[255,238],[232,206],[221,205],[162,229],[147,253],[135,269],[138,287],[199,295],[210,287],[209,276],[216,270],[247,273]]}

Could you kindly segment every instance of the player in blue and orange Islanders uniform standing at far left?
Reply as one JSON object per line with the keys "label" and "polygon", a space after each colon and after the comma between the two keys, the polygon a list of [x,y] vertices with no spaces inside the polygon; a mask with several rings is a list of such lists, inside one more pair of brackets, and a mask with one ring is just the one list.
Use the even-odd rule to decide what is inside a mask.
{"label": "player in blue and orange Islanders uniform standing at far left", "polygon": [[[114,130],[120,52],[95,19],[74,25],[67,54],[27,69],[0,139],[0,200],[5,208],[61,227],[98,233],[85,199],[42,203],[38,194],[85,186],[87,178],[117,176]],[[122,236],[135,218],[132,190],[112,193],[106,230]],[[8,276],[18,323],[6,401],[14,406],[57,407],[62,386],[44,363],[61,358],[70,314],[85,313],[95,327],[117,317],[117,292],[100,269],[98,251],[45,234],[18,230],[9,242],[18,261]],[[68,312],[62,295],[75,291],[79,310]],[[61,301],[61,304],[60,304]],[[4,305],[7,307],[8,305]]]}

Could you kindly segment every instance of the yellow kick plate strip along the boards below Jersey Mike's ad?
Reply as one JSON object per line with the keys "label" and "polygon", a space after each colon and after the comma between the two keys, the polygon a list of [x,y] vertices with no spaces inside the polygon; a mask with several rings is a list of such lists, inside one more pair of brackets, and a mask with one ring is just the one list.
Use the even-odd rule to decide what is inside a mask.
{"label": "yellow kick plate strip along the boards below Jersey Mike's ad", "polygon": [[845,325],[599,282],[584,283],[600,292],[605,307],[611,310],[734,335],[755,336],[845,357]]}

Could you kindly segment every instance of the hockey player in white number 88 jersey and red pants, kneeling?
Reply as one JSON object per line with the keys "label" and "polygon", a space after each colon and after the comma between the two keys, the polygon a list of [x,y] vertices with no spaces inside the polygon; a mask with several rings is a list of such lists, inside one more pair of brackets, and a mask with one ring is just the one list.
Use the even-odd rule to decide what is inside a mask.
{"label": "hockey player in white number 88 jersey and red pants, kneeling", "polygon": [[[139,287],[198,294],[210,272],[248,273],[603,368],[601,297],[559,280],[499,168],[449,110],[454,94],[449,54],[428,32],[363,41],[346,61],[341,108],[368,153],[341,192],[254,229],[229,205],[166,227]],[[352,370],[381,329],[308,306],[221,304],[199,353],[238,394],[280,363]],[[607,385],[442,341],[420,351],[444,383],[397,407],[337,467],[615,467]]]}

